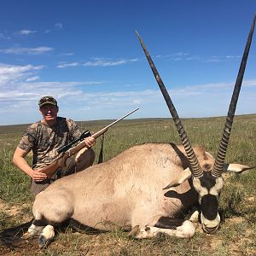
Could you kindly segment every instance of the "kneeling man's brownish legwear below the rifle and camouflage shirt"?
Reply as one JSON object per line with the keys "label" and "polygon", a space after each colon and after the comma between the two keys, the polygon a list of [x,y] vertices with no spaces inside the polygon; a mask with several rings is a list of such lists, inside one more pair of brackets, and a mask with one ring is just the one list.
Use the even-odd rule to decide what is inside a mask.
{"label": "kneeling man's brownish legwear below the rifle and camouflage shirt", "polygon": [[50,183],[55,182],[56,179],[60,178],[60,177],[64,177],[67,176],[69,174],[72,174],[76,172],[76,163],[75,163],[75,157],[71,156],[66,160],[66,167],[63,170],[58,170],[57,172],[55,172],[55,174],[44,180],[43,182],[35,182],[35,181],[31,181],[31,190],[32,190],[32,194],[33,195],[38,195],[39,192],[43,191],[44,189],[46,189]]}

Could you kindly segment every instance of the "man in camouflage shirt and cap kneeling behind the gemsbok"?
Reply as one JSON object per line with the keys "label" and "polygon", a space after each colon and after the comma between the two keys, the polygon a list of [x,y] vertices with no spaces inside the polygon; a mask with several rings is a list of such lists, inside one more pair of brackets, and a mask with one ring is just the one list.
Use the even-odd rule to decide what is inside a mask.
{"label": "man in camouflage shirt and cap kneeling behind the gemsbok", "polygon": [[[91,147],[96,143],[94,137],[86,137],[84,144],[87,148],[83,148],[78,154],[70,156],[66,161],[65,168],[58,170],[52,177],[48,178],[40,170],[57,160],[60,157],[57,149],[71,143],[74,138],[81,135],[81,132],[72,119],[57,115],[59,107],[54,97],[42,97],[38,106],[43,119],[26,129],[13,157],[15,165],[32,178],[31,189],[33,195],[38,195],[39,192],[46,189],[50,183],[60,177],[92,166],[95,153]],[[32,167],[26,161],[26,155],[31,150],[33,154]]]}

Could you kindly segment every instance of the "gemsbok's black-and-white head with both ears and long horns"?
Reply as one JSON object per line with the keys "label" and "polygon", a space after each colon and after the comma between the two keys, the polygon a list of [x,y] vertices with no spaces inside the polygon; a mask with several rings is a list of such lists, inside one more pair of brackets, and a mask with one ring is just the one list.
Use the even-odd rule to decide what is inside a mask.
{"label": "gemsbok's black-and-white head with both ears and long horns", "polygon": [[183,183],[189,177],[192,177],[193,185],[195,191],[198,193],[198,201],[201,206],[201,224],[204,231],[207,233],[214,233],[218,230],[220,224],[220,217],[218,214],[218,201],[219,195],[221,190],[224,187],[224,180],[222,177],[222,172],[224,171],[234,171],[234,172],[243,172],[247,169],[250,169],[248,166],[241,166],[241,165],[230,165],[227,166],[224,164],[225,154],[228,148],[228,143],[230,139],[230,131],[234,119],[234,115],[236,112],[236,103],[238,100],[238,96],[241,89],[241,83],[243,79],[243,74],[245,71],[246,63],[247,63],[247,56],[250,49],[250,45],[253,38],[253,30],[255,25],[256,15],[253,18],[253,24],[251,30],[249,32],[247,38],[246,48],[244,50],[240,69],[237,75],[235,88],[233,91],[233,95],[230,101],[230,108],[227,114],[227,118],[224,124],[224,131],[222,138],[220,140],[218,153],[215,158],[214,164],[212,166],[207,166],[207,172],[204,172],[204,166],[201,166],[200,161],[197,159],[195,152],[189,143],[189,138],[183,128],[181,120],[177,115],[177,111],[172,103],[172,99],[166,90],[166,86],[163,83],[162,79],[160,78],[160,74],[158,73],[156,67],[154,66],[154,62],[152,61],[150,55],[148,54],[148,50],[146,49],[142,38],[139,36],[137,32],[137,37],[140,40],[140,43],[143,47],[144,53],[148,59],[148,63],[154,73],[154,77],[159,84],[160,90],[165,98],[166,104],[172,114],[172,119],[177,126],[177,132],[181,137],[183,147],[187,154],[187,158],[189,160],[189,168],[183,171],[180,177],[177,180],[172,181],[166,188],[169,189],[173,186],[177,186],[178,184]]}

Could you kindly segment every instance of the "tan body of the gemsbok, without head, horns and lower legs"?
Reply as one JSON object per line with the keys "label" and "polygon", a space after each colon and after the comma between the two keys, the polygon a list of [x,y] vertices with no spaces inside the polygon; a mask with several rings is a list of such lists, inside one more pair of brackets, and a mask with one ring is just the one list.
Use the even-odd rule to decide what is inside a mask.
{"label": "tan body of the gemsbok, without head, horns and lower legs", "polygon": [[[189,166],[182,148],[143,144],[63,177],[37,195],[34,216],[49,224],[73,218],[99,230],[109,230],[108,223],[134,227],[154,225],[162,216],[183,218],[185,209],[197,201],[195,190],[188,181],[163,190]],[[212,166],[213,158],[202,148],[195,148],[195,154]]]}

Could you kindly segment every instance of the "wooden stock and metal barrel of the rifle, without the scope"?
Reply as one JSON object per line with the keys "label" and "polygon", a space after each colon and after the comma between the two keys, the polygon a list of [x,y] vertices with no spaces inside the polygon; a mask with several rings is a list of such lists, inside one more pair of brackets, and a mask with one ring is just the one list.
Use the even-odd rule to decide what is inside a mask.
{"label": "wooden stock and metal barrel of the rifle, without the scope", "polygon": [[[130,115],[131,113],[134,113],[137,111],[138,108],[132,110],[130,113],[125,114],[125,116],[121,117],[120,119],[115,120],[110,125],[107,125],[106,127],[102,128],[102,130],[97,131],[91,137],[94,137],[95,139],[98,137],[101,137],[103,133],[108,131],[108,128],[112,125],[115,125],[117,122],[119,122],[122,119],[125,119],[126,116]],[[44,172],[47,177],[52,177],[56,171],[58,171],[61,168],[64,168],[66,165],[66,160],[68,157],[70,157],[73,154],[77,154],[82,148],[86,148],[85,142],[81,142],[78,145],[74,146],[73,148],[68,149],[59,159],[53,161],[49,164],[49,166],[45,166],[40,170],[40,172]]]}

